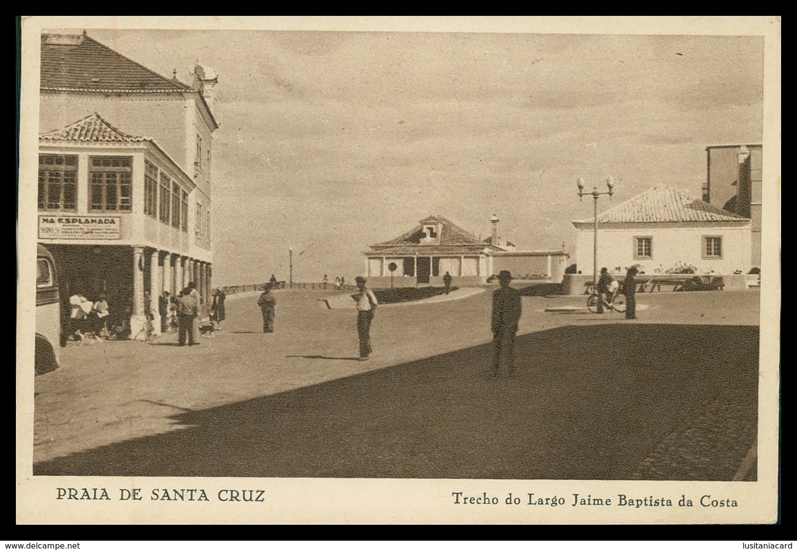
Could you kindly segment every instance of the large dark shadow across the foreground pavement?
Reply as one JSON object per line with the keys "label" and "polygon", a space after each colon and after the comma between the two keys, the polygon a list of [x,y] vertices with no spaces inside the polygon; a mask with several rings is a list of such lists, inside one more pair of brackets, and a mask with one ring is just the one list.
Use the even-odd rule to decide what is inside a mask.
{"label": "large dark shadow across the foreground pavement", "polygon": [[603,324],[171,417],[35,475],[731,480],[756,438],[757,327]]}

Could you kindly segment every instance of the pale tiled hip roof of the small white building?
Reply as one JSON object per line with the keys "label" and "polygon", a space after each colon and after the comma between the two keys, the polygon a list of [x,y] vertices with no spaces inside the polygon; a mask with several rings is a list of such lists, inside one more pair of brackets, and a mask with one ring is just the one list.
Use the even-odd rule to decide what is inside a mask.
{"label": "pale tiled hip roof of the small white building", "polygon": [[[721,210],[699,198],[658,185],[611,210],[599,214],[599,223],[746,222],[738,214]],[[573,223],[593,223],[593,219]]]}

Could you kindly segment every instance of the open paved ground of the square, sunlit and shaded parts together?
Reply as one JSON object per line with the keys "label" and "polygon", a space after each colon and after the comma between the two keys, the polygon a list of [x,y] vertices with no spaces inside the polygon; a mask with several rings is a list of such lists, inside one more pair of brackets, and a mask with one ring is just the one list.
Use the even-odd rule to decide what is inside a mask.
{"label": "open paved ground of the square, sunlit and shaded parts together", "polygon": [[646,295],[636,321],[524,297],[509,379],[486,373],[489,293],[379,309],[366,362],[351,311],[276,295],[274,334],[241,297],[194,348],[64,348],[34,473],[732,479],[756,438],[756,292]]}

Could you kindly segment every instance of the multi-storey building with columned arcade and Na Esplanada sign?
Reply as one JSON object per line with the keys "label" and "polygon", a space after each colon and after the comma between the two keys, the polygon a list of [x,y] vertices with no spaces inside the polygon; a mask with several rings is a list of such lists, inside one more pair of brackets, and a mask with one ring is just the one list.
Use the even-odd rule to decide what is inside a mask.
{"label": "multi-storey building with columned arcade and Na Esplanada sign", "polygon": [[41,36],[38,242],[61,296],[108,297],[135,336],[158,296],[210,298],[212,107],[218,76],[184,84],[83,33]]}

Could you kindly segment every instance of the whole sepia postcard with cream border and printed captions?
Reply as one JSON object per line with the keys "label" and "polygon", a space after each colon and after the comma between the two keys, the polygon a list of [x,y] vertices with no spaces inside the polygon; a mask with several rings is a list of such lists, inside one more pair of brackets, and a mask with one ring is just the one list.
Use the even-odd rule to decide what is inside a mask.
{"label": "whole sepia postcard with cream border and printed captions", "polygon": [[779,18],[21,58],[19,524],[777,521]]}

